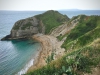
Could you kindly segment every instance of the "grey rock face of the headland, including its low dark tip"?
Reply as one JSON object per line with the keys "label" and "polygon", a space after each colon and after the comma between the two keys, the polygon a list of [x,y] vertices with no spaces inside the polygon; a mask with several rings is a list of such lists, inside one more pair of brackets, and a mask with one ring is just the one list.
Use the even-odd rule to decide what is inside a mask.
{"label": "grey rock face of the headland, including its low dark tip", "polygon": [[11,29],[11,33],[8,35],[9,37],[6,36],[1,40],[30,37],[37,33],[45,33],[44,31],[45,30],[42,21],[40,24],[38,19],[35,17],[30,17],[17,21]]}

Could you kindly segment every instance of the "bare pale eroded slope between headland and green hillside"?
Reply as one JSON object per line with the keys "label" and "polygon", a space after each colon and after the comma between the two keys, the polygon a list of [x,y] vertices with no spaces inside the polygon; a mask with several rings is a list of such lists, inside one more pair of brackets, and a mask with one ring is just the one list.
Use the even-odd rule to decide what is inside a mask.
{"label": "bare pale eroded slope between headland and green hillside", "polygon": [[51,36],[58,37],[67,34],[71,29],[73,29],[80,19],[80,16],[76,19],[72,19],[69,22],[65,22],[64,24],[58,26],[57,28],[53,29],[50,33]]}

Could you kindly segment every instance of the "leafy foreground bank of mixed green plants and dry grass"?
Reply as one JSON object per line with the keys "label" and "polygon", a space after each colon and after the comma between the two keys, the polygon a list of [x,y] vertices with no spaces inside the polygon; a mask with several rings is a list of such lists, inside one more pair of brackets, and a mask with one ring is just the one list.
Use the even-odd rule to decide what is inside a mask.
{"label": "leafy foreground bank of mixed green plants and dry grass", "polygon": [[[82,75],[100,65],[100,48],[84,47],[26,75]],[[91,58],[90,58],[91,57]]]}

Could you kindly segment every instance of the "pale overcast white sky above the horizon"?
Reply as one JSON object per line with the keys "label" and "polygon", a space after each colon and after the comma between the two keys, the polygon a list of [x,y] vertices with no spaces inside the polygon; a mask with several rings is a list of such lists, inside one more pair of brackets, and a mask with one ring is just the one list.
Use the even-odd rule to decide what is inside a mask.
{"label": "pale overcast white sky above the horizon", "polygon": [[100,10],[100,0],[0,0],[0,10]]}

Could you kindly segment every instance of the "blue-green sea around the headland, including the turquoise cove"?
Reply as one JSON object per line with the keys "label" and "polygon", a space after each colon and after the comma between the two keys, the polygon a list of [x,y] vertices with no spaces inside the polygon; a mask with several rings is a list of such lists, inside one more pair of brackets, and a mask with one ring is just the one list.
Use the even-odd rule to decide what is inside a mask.
{"label": "blue-green sea around the headland, including the turquoise cove", "polygon": [[[45,11],[0,11],[0,39],[10,34],[14,23],[20,19],[42,14]],[[100,15],[100,10],[59,11],[73,16]],[[41,48],[34,40],[0,41],[0,75],[22,75],[34,64],[34,57]]]}

